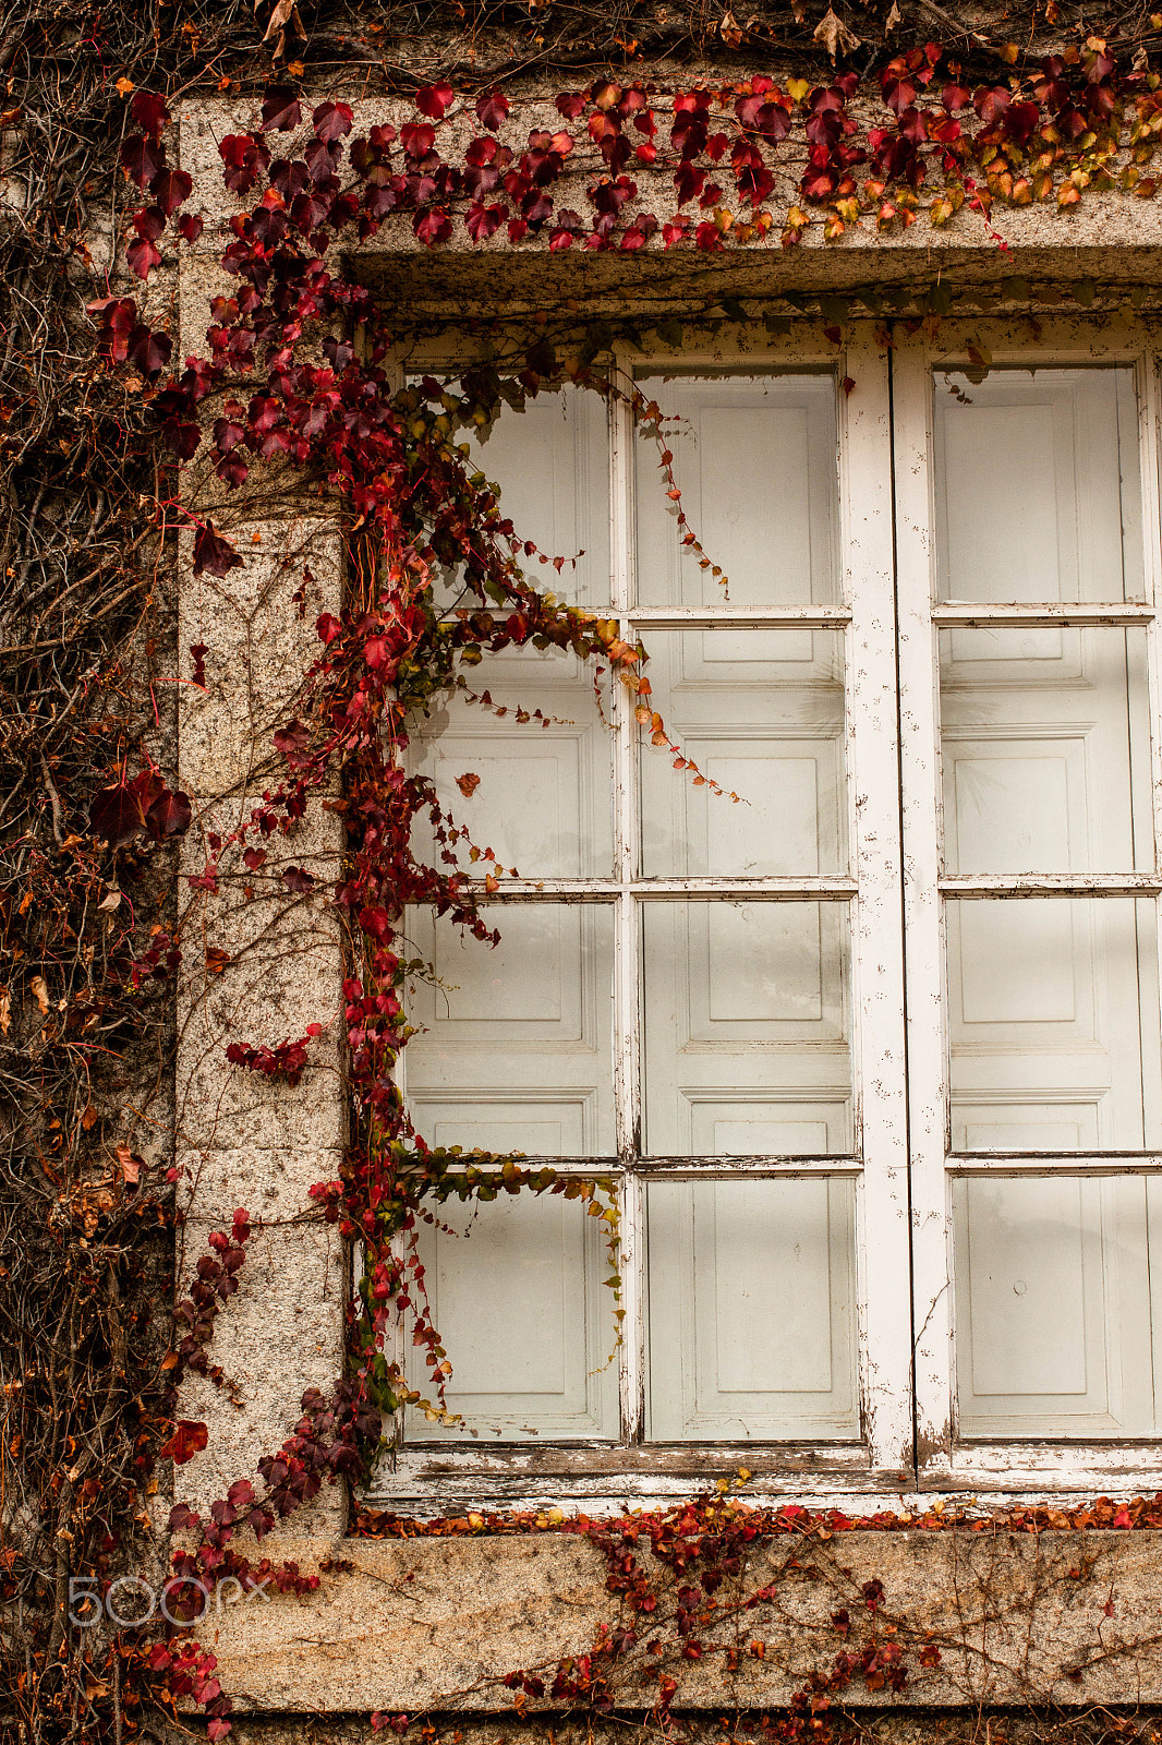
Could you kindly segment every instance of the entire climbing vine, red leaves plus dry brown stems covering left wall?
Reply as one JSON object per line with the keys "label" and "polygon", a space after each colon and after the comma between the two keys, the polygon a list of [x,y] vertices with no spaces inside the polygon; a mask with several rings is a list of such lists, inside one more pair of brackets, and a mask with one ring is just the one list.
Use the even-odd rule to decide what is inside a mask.
{"label": "entire climbing vine, red leaves plus dry brown stems covering left wall", "polygon": [[[61,38],[52,37],[61,9],[24,12],[19,24],[9,17],[0,31],[9,96],[14,80],[35,91],[35,80],[30,84],[19,72],[30,54],[59,61],[63,52]],[[249,5],[243,12],[249,28]],[[759,56],[748,49],[747,65],[663,80],[635,63],[639,38],[618,16],[611,24],[621,31],[616,70],[593,77],[565,68],[551,82],[541,79],[534,92],[522,80],[473,80],[462,66],[447,75],[429,66],[422,77],[394,79],[391,119],[359,133],[354,105],[302,94],[305,70],[288,65],[290,56],[305,52],[307,40],[295,9],[274,5],[262,23],[270,24],[265,52],[272,45],[279,54],[277,75],[267,77],[267,61],[258,66],[248,42],[251,61],[243,84],[246,92],[262,87],[262,94],[253,98],[251,124],[223,134],[218,147],[236,209],[215,253],[230,290],[213,300],[201,354],[176,359],[155,288],[174,250],[206,248],[206,215],[195,199],[202,190],[194,188],[188,169],[171,162],[173,92],[188,86],[234,94],[237,80],[218,66],[229,61],[237,72],[239,54],[211,54],[215,30],[225,26],[190,9],[174,26],[181,37],[176,72],[159,77],[161,26],[147,51],[138,45],[129,58],[127,49],[119,49],[119,59],[101,35],[106,26],[77,9],[77,40],[85,56],[92,54],[85,65],[96,68],[92,82],[99,91],[99,103],[96,96],[87,101],[103,115],[105,140],[124,127],[119,162],[136,208],[127,220],[124,262],[140,283],[131,293],[124,277],[110,272],[106,295],[91,300],[101,368],[84,377],[84,393],[79,389],[70,401],[77,407],[73,424],[54,440],[58,454],[68,454],[72,480],[94,466],[112,476],[117,469],[108,455],[117,454],[119,503],[133,503],[138,518],[126,537],[126,524],[106,520],[101,501],[84,496],[87,487],[77,483],[77,501],[87,504],[85,515],[92,510],[89,546],[80,532],[66,532],[65,543],[73,539],[73,550],[91,550],[94,529],[101,541],[98,579],[85,578],[80,590],[80,618],[70,618],[65,606],[79,578],[65,560],[44,557],[58,550],[59,522],[47,534],[44,524],[37,529],[38,508],[31,518],[12,511],[17,536],[9,536],[5,546],[10,579],[23,590],[31,588],[30,578],[35,588],[44,583],[44,597],[33,588],[33,602],[24,602],[31,618],[3,651],[37,674],[17,708],[17,693],[5,693],[5,750],[35,770],[37,796],[30,803],[26,789],[19,782],[14,787],[24,799],[2,920],[12,939],[17,923],[23,928],[24,958],[23,967],[12,960],[0,995],[0,1030],[7,1037],[14,1028],[14,1042],[31,1047],[40,1077],[31,1094],[21,1089],[12,1101],[35,1134],[28,1159],[49,1185],[38,1188],[40,1199],[30,1199],[26,1188],[23,1199],[12,1199],[19,1216],[9,1220],[3,1277],[12,1276],[33,1297],[40,1290],[35,1300],[70,1328],[68,1361],[45,1368],[44,1391],[26,1356],[30,1335],[21,1328],[16,1349],[24,1356],[24,1377],[9,1394],[16,1405],[3,1443],[5,1457],[19,1459],[21,1438],[37,1434],[37,1413],[58,1413],[61,1398],[68,1398],[68,1424],[44,1457],[44,1497],[30,1502],[33,1513],[45,1511],[49,1525],[33,1534],[31,1551],[5,1551],[0,1562],[7,1600],[31,1611],[47,1597],[51,1623],[24,1639],[23,1665],[12,1675],[21,1693],[17,1721],[35,1717],[37,1738],[96,1736],[108,1726],[120,1740],[136,1724],[143,1693],[190,1696],[208,1715],[211,1736],[230,1731],[230,1698],[195,1632],[180,1628],[145,1647],[117,1640],[99,1668],[92,1651],[77,1651],[66,1640],[70,1576],[84,1569],[106,1579],[120,1567],[119,1558],[148,1555],[148,1520],[143,1525],[141,1516],[150,1485],[157,1485],[157,1461],[181,1464],[206,1447],[206,1426],[178,1415],[180,1382],[194,1372],[227,1394],[234,1386],[213,1361],[213,1337],[216,1317],[229,1314],[258,1220],[239,1208],[229,1228],[211,1235],[208,1251],[188,1270],[171,1324],[159,1326],[148,1304],[164,1300],[178,1171],[171,1160],[155,1159],[138,1133],[126,1136],[106,1115],[117,1108],[122,1070],[117,1064],[106,1071],[110,1063],[127,1061],[141,1035],[162,1035],[159,1014],[199,925],[199,902],[208,904],[241,876],[251,885],[277,878],[288,897],[332,906],[342,918],[349,955],[342,1023],[354,1124],[342,1173],[319,1181],[312,1201],[319,1218],[363,1242],[366,1269],[351,1316],[349,1365],[328,1393],[304,1396],[302,1419],[258,1462],[262,1487],[253,1476],[239,1476],[206,1518],[183,1504],[169,1516],[171,1529],[183,1536],[171,1572],[187,1577],[192,1593],[195,1581],[227,1577],[243,1588],[270,1581],[281,1591],[309,1591],[318,1576],[246,1555],[244,1536],[253,1534],[260,1544],[321,1485],[363,1475],[401,1405],[443,1410],[448,1354],[426,1309],[414,1242],[419,1223],[438,1218],[452,1197],[532,1190],[583,1199],[616,1239],[609,1183],[557,1176],[515,1159],[466,1159],[429,1146],[410,1124],[394,1084],[410,1035],[408,979],[420,972],[403,949],[405,909],[429,906],[487,948],[494,934],[478,902],[476,878],[483,871],[490,895],[504,869],[496,866],[487,841],[473,839],[441,806],[433,785],[408,773],[407,750],[436,698],[455,688],[471,693],[482,654],[558,647],[590,663],[595,681],[626,700],[647,736],[670,747],[682,778],[703,780],[653,708],[644,651],[625,644],[614,621],[562,599],[569,592],[565,560],[522,537],[478,471],[468,440],[487,435],[501,412],[520,410],[564,382],[628,398],[639,428],[658,443],[661,489],[675,504],[679,536],[717,574],[714,553],[701,551],[696,529],[686,522],[665,408],[609,365],[609,323],[569,316],[534,323],[520,337],[492,332],[478,361],[457,377],[427,375],[400,389],[391,375],[400,337],[394,312],[379,307],[349,274],[345,251],[394,227],[424,250],[705,257],[738,246],[790,250],[815,230],[837,241],[857,225],[878,232],[916,222],[942,227],[961,208],[1003,246],[1007,208],[1045,204],[1066,213],[1068,222],[1068,208],[1087,195],[1120,190],[1152,199],[1157,192],[1152,162],[1162,133],[1159,75],[1141,40],[1118,42],[1083,24],[1063,28],[1054,44],[1038,38],[1035,45],[974,26],[946,37],[944,47],[926,38],[926,26],[916,26],[909,45],[897,47],[885,23],[867,58],[857,51],[869,45],[830,7],[806,28],[794,9],[799,47],[790,72],[755,70]],[[1045,30],[1054,23],[1047,19]],[[234,16],[230,28],[243,28]],[[731,52],[762,42],[764,30],[769,37],[757,16],[740,26],[729,10],[715,28]],[[1162,26],[1152,21],[1153,28]],[[42,38],[33,38],[33,30]],[[366,35],[361,42],[366,49]],[[44,44],[51,44],[51,54]],[[211,79],[188,65],[199,54]],[[581,51],[572,58],[591,59]],[[0,127],[30,126],[16,99],[0,115]],[[63,281],[85,260],[94,230],[84,176],[73,187],[68,162],[63,150],[59,164],[54,159],[61,185],[72,190],[68,222],[52,204],[59,201],[56,188],[44,195],[44,209],[52,213],[45,234],[72,237],[68,248],[52,243],[61,250],[52,263]],[[113,230],[120,225],[120,199],[122,188],[113,185]],[[19,220],[10,229],[19,236]],[[28,236],[21,246],[31,248]],[[37,263],[42,267],[42,257]],[[23,283],[23,270],[14,269],[14,284]],[[21,295],[14,293],[14,302]],[[1080,288],[1078,302],[1092,295],[1092,288]],[[883,288],[869,286],[858,300],[871,314],[885,309]],[[822,297],[813,307],[839,340],[855,298]],[[947,307],[947,284],[921,290],[918,314],[939,316]],[[785,319],[783,305],[755,307],[742,297],[712,304],[708,312],[731,321],[766,318],[768,326]],[[28,321],[23,311],[19,319],[9,314],[12,332]],[[63,318],[59,326],[66,328]],[[680,344],[680,323],[665,321],[660,337]],[[82,352],[79,380],[89,363]],[[31,482],[24,501],[38,506],[35,469],[47,475],[52,461],[45,459],[47,438],[28,421],[42,417],[49,424],[49,396],[28,380],[12,386],[10,358],[5,372],[12,401],[0,407],[0,415],[5,424],[16,417],[21,431],[17,459],[10,443],[5,450],[5,464],[16,468],[5,475],[10,501]],[[204,475],[190,475],[192,489],[181,496],[180,466]],[[347,597],[338,612],[318,619],[318,649],[297,712],[272,735],[277,777],[236,829],[208,836],[204,864],[178,890],[174,845],[188,838],[192,806],[166,770],[162,745],[176,686],[206,686],[208,649],[201,642],[180,649],[176,668],[167,654],[169,670],[159,672],[157,651],[167,649],[171,633],[171,602],[159,578],[171,536],[185,529],[192,530],[195,574],[227,579],[241,564],[236,522],[286,478],[300,494],[318,489],[326,503],[338,503],[349,527]],[[550,579],[558,592],[541,579],[553,567]],[[448,572],[461,585],[452,609],[441,604],[440,592]],[[56,614],[51,623],[44,616],[49,612]],[[117,632],[110,646],[101,640],[105,625]],[[63,672],[73,647],[77,665]],[[143,670],[157,684],[138,682],[129,649],[148,653]],[[68,722],[65,736],[58,719]],[[89,756],[77,752],[80,742]],[[293,841],[300,820],[321,804],[342,808],[340,876],[325,883],[305,867],[263,871],[270,846]],[[417,818],[434,829],[434,864],[414,853]],[[227,1050],[229,1063],[293,1087],[323,1023],[321,1014],[297,1038],[241,1037]],[[49,1286],[37,1284],[16,1234],[33,1204],[61,1255],[59,1267],[56,1256],[45,1262]],[[126,1297],[133,1302],[126,1304]],[[91,1307],[98,1302],[99,1312]],[[401,1312],[417,1324],[426,1370],[417,1379],[389,1356],[387,1335]],[[5,1314],[19,1319],[19,1310]],[[14,1413],[23,1429],[12,1431]],[[1155,1523],[1150,1511],[1111,1522]],[[368,1518],[363,1525],[414,1530]],[[509,1522],[506,1530],[515,1525]],[[584,1532],[598,1546],[618,1616],[591,1654],[569,1665],[513,1670],[508,1684],[515,1700],[551,1696],[602,1715],[625,1707],[632,1691],[628,1707],[651,1712],[661,1724],[680,1680],[668,1649],[651,1644],[665,1637],[680,1663],[694,1663],[703,1653],[740,1653],[712,1640],[712,1626],[729,1612],[733,1628],[747,1621],[743,1614],[769,1604],[771,1597],[759,1590],[740,1590],[729,1605],[715,1602],[724,1583],[742,1576],[745,1548],[780,1534],[843,1530],[843,1522],[830,1518],[771,1520],[722,1495],[616,1527],[553,1525]],[[45,1555],[52,1562],[47,1576]],[[715,1605],[719,1616],[712,1618]],[[857,1632],[858,1646],[848,1644],[839,1618],[844,1609],[848,1628],[851,1616],[867,1625]],[[660,1611],[665,1630],[646,1628]],[[195,1614],[195,1600],[176,1607],[183,1626]],[[825,1738],[827,1710],[841,1693],[860,1684],[899,1689],[909,1665],[930,1665],[925,1654],[939,1658],[939,1644],[906,1640],[899,1621],[885,1623],[874,1593],[837,1604],[836,1614],[834,1658],[796,1698],[790,1714],[766,1726],[768,1733]],[[761,1640],[757,1633],[748,1637],[742,1653],[759,1658]],[[408,1724],[408,1717],[387,1719],[396,1731]]]}

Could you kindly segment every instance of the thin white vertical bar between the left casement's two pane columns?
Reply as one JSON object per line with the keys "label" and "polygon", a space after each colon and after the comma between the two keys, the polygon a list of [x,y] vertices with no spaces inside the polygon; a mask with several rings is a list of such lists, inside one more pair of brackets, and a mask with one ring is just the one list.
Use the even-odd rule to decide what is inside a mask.
{"label": "thin white vertical bar between the left casement's two pane columns", "polygon": [[[616,359],[614,380],[632,380],[630,368]],[[611,510],[612,510],[612,606],[619,635],[632,640],[628,611],[633,600],[633,408],[612,400]],[[614,1105],[618,1159],[621,1164],[621,1434],[642,1440],[646,1424],[646,1228],[642,1181],[633,1164],[640,1152],[640,934],[633,899],[639,869],[637,721],[633,701],[614,679],[614,874],[621,886],[614,921]]]}

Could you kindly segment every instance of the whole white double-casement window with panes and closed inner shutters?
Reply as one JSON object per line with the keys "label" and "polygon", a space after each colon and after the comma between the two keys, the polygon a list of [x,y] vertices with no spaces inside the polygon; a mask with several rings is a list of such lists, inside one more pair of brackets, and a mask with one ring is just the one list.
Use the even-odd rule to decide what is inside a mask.
{"label": "whole white double-casement window with panes and closed inner shutters", "polygon": [[407,1096],[434,1141],[618,1180],[626,1317],[607,1363],[574,1204],[427,1232],[471,1434],[408,1424],[384,1499],[1162,1468],[1153,365],[1110,325],[988,342],[982,380],[951,323],[621,358],[728,590],[625,407],[483,448],[740,801],[564,656],[487,658],[492,710],[431,721],[520,876],[494,953],[417,916]]}

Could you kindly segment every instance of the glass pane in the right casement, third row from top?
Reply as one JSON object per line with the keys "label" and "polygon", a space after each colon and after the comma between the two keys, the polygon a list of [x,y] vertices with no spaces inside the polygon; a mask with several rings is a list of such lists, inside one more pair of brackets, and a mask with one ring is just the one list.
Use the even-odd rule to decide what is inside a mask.
{"label": "glass pane in the right casement, third row from top", "polygon": [[1153,902],[947,904],[954,1152],[1157,1150]]}

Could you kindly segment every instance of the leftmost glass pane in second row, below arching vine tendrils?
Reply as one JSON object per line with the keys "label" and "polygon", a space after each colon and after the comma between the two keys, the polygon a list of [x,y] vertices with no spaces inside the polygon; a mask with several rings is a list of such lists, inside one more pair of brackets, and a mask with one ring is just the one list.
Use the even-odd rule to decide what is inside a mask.
{"label": "leftmost glass pane in second row, below arching vine tendrils", "polygon": [[[490,701],[452,695],[434,710],[412,747],[415,773],[436,784],[455,822],[509,872],[609,874],[614,740],[591,675],[572,654],[515,649],[487,654],[468,682]],[[422,857],[440,853],[426,813],[414,845]],[[461,862],[471,871],[466,846]]]}

